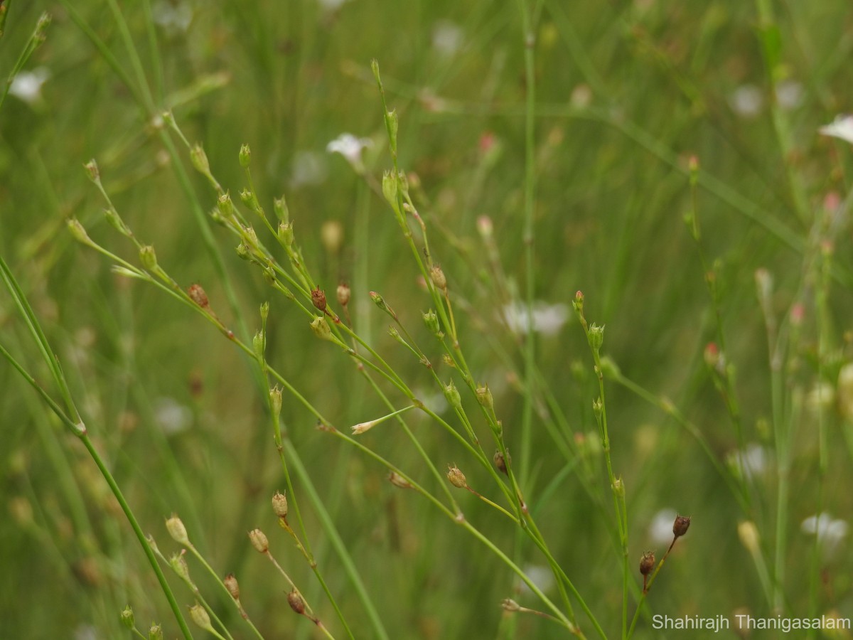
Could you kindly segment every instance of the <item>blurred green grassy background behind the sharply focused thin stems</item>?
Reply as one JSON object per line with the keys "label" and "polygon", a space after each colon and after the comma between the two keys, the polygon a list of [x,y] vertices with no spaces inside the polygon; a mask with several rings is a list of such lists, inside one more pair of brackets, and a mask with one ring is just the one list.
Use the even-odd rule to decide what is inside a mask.
{"label": "blurred green grassy background behind the sharply focused thin stems", "polygon": [[[163,520],[176,512],[212,567],[237,574],[243,603],[267,637],[318,635],[289,610],[287,584],[248,546],[253,527],[267,532],[276,557],[339,634],[269,507],[284,482],[252,363],[183,305],[113,274],[107,259],[72,240],[64,221],[77,217],[96,241],[137,262],[133,247],[103,224],[104,203],[83,170],[95,158],[136,236],[156,247],[177,282],[200,283],[212,309],[239,333],[154,115],[172,109],[234,196],[245,186],[237,152],[250,144],[262,204],[271,212],[272,198],[287,195],[296,239],[321,287],[331,299],[339,282],[351,283],[357,330],[440,410],[441,390],[386,334],[387,318],[367,297],[370,290],[383,294],[450,380],[421,323],[430,300],[408,247],[381,197],[326,150],[351,132],[371,140],[363,155],[369,175],[378,179],[391,166],[369,69],[377,59],[389,107],[399,113],[400,166],[420,178],[415,204],[450,282],[461,344],[478,381],[490,384],[508,445],[517,451],[523,398],[515,375],[524,370],[524,336],[502,318],[505,305],[525,298],[530,80],[521,10],[531,10],[534,297],[554,305],[558,321],[566,317],[537,333],[537,365],[578,434],[564,433],[566,442],[579,451],[597,439],[597,385],[571,311],[580,289],[590,322],[606,325],[604,351],[622,374],[653,397],[671,399],[752,498],[750,509],[741,508],[688,430],[607,382],[613,467],[627,488],[631,571],[644,550],[660,557],[669,544],[662,541],[666,527],[663,538],[654,535],[656,515],[671,509],[693,516],[650,595],[650,612],[774,613],[738,538],[738,523],[754,521],[771,580],[784,541],[783,613],[853,617],[846,525],[834,530],[838,539],[824,532],[817,546],[802,527],[819,512],[844,522],[851,509],[853,437],[844,410],[851,392],[838,386],[838,375],[850,359],[853,260],[847,207],[838,201],[850,189],[853,164],[847,143],[818,134],[851,108],[849,3],[530,4],[124,3],[120,11],[156,106],[148,113],[134,99],[134,56],[112,4],[11,3],[0,39],[3,77],[38,15],[49,11],[52,23],[25,68],[36,73],[36,90],[19,85],[0,109],[0,251],[59,352],[93,439],[160,549],[174,550]],[[102,40],[132,90],[77,22]],[[176,143],[190,187],[208,210],[215,194]],[[695,199],[692,156],[699,162]],[[682,219],[693,210],[699,245]],[[493,224],[499,270],[478,233],[483,216]],[[270,364],[340,429],[386,413],[351,360],[314,339],[305,317],[236,257],[234,239],[213,230],[251,333],[259,326],[258,305],[270,301]],[[339,242],[328,237],[335,233]],[[828,249],[821,254],[821,246],[834,247],[826,280],[821,255]],[[705,286],[711,268],[716,305]],[[767,309],[782,328],[775,377],[753,277],[759,268],[774,279]],[[804,313],[799,329],[787,321],[792,305]],[[718,327],[736,373],[740,439],[703,358],[706,344],[720,344]],[[37,378],[46,375],[5,294],[0,340]],[[125,604],[141,625],[162,621],[166,637],[174,637],[177,627],[150,567],[85,451],[9,366],[0,367],[0,390],[0,637],[125,637],[118,621]],[[401,397],[392,399],[403,405]],[[473,398],[464,402],[476,406]],[[552,409],[544,396],[537,403],[525,492],[555,556],[608,636],[618,637],[622,579],[612,509],[609,502],[599,509],[577,481],[579,463],[556,451],[544,427],[554,420]],[[443,415],[452,417],[446,408]],[[481,544],[414,492],[386,482],[385,469],[317,431],[314,417],[287,395],[282,418],[391,637],[565,637],[547,620],[504,614],[504,597],[540,607]],[[791,433],[787,475],[780,419]],[[439,468],[456,463],[471,486],[497,497],[482,469],[464,466],[465,452],[446,433],[414,413],[407,420]],[[487,439],[485,425],[478,428]],[[363,442],[431,482],[391,422]],[[609,501],[603,458],[589,447],[583,464]],[[748,458],[740,468],[731,464],[739,448]],[[572,473],[560,475],[566,465],[575,465]],[[783,475],[790,495],[779,523]],[[353,628],[363,630],[357,637],[370,637],[337,556],[295,490],[330,588]],[[467,519],[519,564],[533,573],[544,566],[531,545],[517,544],[508,521],[470,494],[457,499]],[[665,524],[670,512],[661,517]],[[218,602],[200,567],[192,570]],[[175,584],[179,602],[191,603]],[[548,593],[556,597],[553,586]],[[248,637],[226,605],[218,607],[229,612],[236,637]],[[634,608],[632,599],[629,615]],[[592,637],[583,614],[578,622]],[[641,620],[635,637],[658,635]]]}

